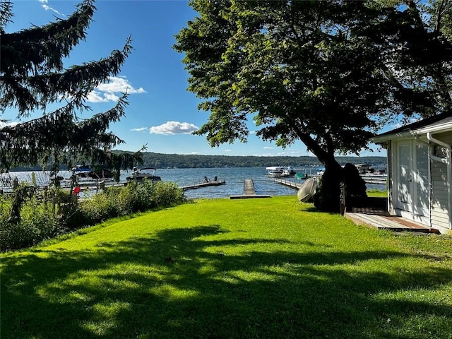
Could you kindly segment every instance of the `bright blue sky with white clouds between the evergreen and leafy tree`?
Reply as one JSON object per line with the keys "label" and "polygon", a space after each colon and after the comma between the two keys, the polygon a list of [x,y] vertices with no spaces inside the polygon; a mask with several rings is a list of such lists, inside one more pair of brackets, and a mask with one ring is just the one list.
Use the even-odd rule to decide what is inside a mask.
{"label": "bright blue sky with white clouds between the evergreen and leafy tree", "polygon": [[[30,25],[44,25],[58,18],[66,18],[80,1],[21,0],[13,1],[13,23],[7,32],[16,32]],[[221,145],[210,148],[205,136],[192,131],[208,119],[208,112],[198,111],[198,99],[187,88],[188,73],[182,64],[183,55],[172,46],[174,35],[193,20],[196,12],[179,0],[115,1],[100,0],[88,29],[88,37],[73,49],[65,66],[81,64],[107,57],[112,50],[121,49],[131,35],[133,52],[126,59],[119,76],[98,86],[90,95],[88,105],[93,113],[114,106],[122,92],[129,95],[126,117],[110,129],[126,143],[121,150],[139,150],[147,144],[155,153],[203,155],[312,155],[301,142],[290,148],[278,148],[275,143],[263,142],[251,133],[247,143]],[[42,112],[36,112],[37,117]],[[81,117],[89,117],[89,112]],[[1,119],[16,121],[16,112],[8,111]],[[252,129],[251,129],[252,131]],[[361,155],[386,155],[385,150]]]}

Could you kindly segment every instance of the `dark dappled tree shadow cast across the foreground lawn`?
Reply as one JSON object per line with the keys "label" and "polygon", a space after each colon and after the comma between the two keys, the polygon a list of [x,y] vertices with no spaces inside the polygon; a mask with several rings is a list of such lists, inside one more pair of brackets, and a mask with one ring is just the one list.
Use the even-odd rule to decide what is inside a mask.
{"label": "dark dappled tree shadow cast across the foreground lawn", "polygon": [[[1,338],[441,338],[430,316],[451,319],[441,304],[374,296],[440,288],[450,269],[350,270],[343,265],[407,254],[256,251],[287,241],[215,237],[222,232],[180,228],[93,252],[5,258]],[[400,334],[410,319],[423,332]]]}

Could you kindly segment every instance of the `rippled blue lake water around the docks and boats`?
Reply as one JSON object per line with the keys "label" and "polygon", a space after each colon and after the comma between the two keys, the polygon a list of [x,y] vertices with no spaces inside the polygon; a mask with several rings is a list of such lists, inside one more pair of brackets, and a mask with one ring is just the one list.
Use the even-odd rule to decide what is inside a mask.
{"label": "rippled blue lake water around the docks and boats", "polygon": [[[315,167],[310,168],[296,168],[299,173],[315,174]],[[121,182],[126,182],[126,177],[131,174],[131,171],[121,172]],[[155,175],[162,178],[163,182],[174,182],[179,186],[188,186],[199,184],[203,182],[204,177],[213,180],[218,177],[218,180],[225,180],[225,185],[207,186],[199,189],[190,189],[185,191],[188,198],[229,198],[233,195],[243,194],[243,186],[245,179],[253,179],[256,194],[268,194],[270,196],[287,196],[297,195],[297,190],[286,187],[282,184],[275,183],[272,178],[265,177],[267,171],[265,167],[220,167],[220,168],[170,168],[157,169]],[[71,172],[61,171],[59,175],[64,178],[69,178]],[[9,179],[18,177],[20,182],[31,182],[32,172],[10,172],[8,174],[1,174],[1,178]],[[49,172],[35,172],[35,178],[38,185],[47,185],[49,182]],[[293,180],[299,181],[295,178]],[[303,181],[299,181],[303,182]],[[382,185],[367,184],[368,189],[385,189]]]}

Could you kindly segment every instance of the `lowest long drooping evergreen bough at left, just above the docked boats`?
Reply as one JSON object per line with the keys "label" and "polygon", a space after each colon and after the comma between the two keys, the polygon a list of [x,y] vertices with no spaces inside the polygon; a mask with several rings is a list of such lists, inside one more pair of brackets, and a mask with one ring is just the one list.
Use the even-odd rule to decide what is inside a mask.
{"label": "lowest long drooping evergreen bough at left, just above the docked boats", "polygon": [[[83,121],[74,120],[76,105],[69,102],[65,107],[43,117],[16,126],[0,129],[0,160],[2,164],[27,165],[39,163],[54,155],[58,161],[60,152],[83,153],[91,159],[96,150],[106,150],[124,143],[111,132],[111,122],[124,117],[128,105],[124,94],[117,105],[106,112],[95,114]],[[37,133],[36,131],[40,131]]]}

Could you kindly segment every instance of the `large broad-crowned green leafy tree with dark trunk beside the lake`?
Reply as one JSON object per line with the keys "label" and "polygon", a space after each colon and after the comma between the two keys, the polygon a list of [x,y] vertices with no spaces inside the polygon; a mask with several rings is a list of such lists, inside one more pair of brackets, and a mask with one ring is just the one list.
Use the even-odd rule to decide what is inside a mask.
{"label": "large broad-crowned green leafy tree with dark trunk beside the lake", "polygon": [[[189,90],[210,112],[196,132],[206,134],[210,145],[246,141],[252,117],[263,140],[307,145],[326,165],[326,174],[338,174],[331,180],[331,187],[338,187],[342,170],[335,154],[367,148],[383,122],[407,107],[408,114],[439,110],[427,109],[432,93],[425,90],[419,65],[420,59],[432,63],[425,60],[427,52],[415,49],[415,32],[427,31],[422,41],[439,39],[428,34],[424,25],[430,23],[416,16],[412,1],[408,6],[342,0],[190,4],[199,16],[179,32],[174,48],[185,54]],[[422,27],[415,29],[419,19]],[[447,102],[446,97],[438,105]],[[338,189],[331,191],[335,201]]]}

